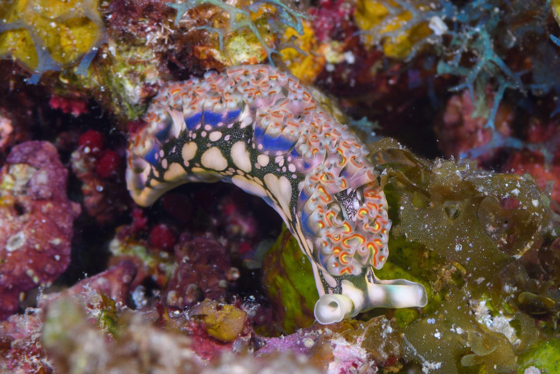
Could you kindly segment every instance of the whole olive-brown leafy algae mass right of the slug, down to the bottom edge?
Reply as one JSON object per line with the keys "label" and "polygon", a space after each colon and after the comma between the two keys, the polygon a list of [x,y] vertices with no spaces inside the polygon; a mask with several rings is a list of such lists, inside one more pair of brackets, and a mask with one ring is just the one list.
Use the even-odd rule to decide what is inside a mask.
{"label": "whole olive-brown leafy algae mass right of the slug, down to the bottom edge", "polygon": [[529,175],[423,160],[387,138],[369,147],[395,236],[376,274],[423,283],[429,295],[422,310],[394,311],[405,359],[424,372],[522,372],[516,355],[536,352],[542,329],[531,315],[549,316],[547,330],[556,321],[553,282],[530,279],[519,261],[554,239],[547,196]]}

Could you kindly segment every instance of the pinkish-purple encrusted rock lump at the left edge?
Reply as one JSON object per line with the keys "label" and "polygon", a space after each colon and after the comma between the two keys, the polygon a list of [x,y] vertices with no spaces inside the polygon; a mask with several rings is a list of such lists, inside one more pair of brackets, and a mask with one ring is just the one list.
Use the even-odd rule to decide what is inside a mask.
{"label": "pinkish-purple encrusted rock lump at the left edge", "polygon": [[13,147],[0,171],[0,319],[18,308],[21,292],[49,286],[70,262],[72,222],[68,171],[48,142]]}

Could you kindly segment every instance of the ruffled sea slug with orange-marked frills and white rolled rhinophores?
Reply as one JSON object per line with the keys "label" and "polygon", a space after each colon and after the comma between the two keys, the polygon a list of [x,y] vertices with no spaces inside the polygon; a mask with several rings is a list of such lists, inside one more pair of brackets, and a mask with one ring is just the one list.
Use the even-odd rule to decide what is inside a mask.
{"label": "ruffled sea slug with orange-marked frills and white rolled rhinophores", "polygon": [[375,307],[424,306],[426,289],[380,280],[391,221],[367,147],[296,77],[266,65],[171,82],[130,139],[127,185],[143,206],[187,182],[262,197],[309,256],[321,324]]}

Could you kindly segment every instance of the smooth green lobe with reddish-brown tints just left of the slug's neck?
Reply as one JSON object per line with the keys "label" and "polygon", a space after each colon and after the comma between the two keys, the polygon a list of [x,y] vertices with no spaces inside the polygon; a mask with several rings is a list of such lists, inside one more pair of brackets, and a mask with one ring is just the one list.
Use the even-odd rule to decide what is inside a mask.
{"label": "smooth green lobe with reddish-brown tints just left of the slug's neck", "polygon": [[276,329],[292,334],[311,326],[319,294],[311,263],[286,226],[264,256],[263,269],[263,284],[272,302]]}

